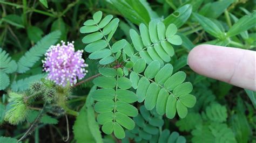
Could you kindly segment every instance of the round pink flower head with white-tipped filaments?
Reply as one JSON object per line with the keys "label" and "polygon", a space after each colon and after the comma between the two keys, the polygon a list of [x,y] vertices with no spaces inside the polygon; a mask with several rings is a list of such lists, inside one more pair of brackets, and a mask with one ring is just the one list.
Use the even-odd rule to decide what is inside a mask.
{"label": "round pink flower head with white-tipped filaments", "polygon": [[77,78],[81,80],[86,73],[85,67],[88,67],[84,63],[82,58],[83,50],[75,52],[73,41],[65,42],[61,41],[62,45],[52,45],[45,53],[45,60],[43,60],[43,70],[48,72],[48,80],[54,81],[58,85],[65,85],[69,82],[70,85],[77,83]]}

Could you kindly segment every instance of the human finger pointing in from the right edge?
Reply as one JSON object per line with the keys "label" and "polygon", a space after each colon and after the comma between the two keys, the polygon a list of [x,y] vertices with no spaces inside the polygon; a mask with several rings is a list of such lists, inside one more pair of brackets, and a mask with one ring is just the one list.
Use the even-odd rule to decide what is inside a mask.
{"label": "human finger pointing in from the right edge", "polygon": [[199,45],[188,54],[196,73],[256,91],[256,52],[213,45]]}

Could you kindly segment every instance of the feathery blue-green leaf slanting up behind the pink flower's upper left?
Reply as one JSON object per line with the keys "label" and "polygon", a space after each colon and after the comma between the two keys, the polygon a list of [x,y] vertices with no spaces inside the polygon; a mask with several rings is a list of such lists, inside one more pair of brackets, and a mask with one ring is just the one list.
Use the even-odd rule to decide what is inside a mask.
{"label": "feathery blue-green leaf slanting up behind the pink flower's upper left", "polygon": [[60,31],[52,32],[43,37],[35,46],[29,49],[29,51],[18,61],[18,73],[25,73],[35,65],[35,63],[45,54],[47,49],[50,48],[51,45],[56,44],[60,34]]}

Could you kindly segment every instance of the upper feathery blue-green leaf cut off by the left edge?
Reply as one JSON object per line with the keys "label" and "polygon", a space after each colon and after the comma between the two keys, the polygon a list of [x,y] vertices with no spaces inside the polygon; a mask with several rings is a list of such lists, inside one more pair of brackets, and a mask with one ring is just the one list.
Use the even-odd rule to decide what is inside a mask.
{"label": "upper feathery blue-green leaf cut off by the left edge", "polygon": [[17,63],[9,57],[2,48],[0,48],[0,72],[14,73],[17,70]]}

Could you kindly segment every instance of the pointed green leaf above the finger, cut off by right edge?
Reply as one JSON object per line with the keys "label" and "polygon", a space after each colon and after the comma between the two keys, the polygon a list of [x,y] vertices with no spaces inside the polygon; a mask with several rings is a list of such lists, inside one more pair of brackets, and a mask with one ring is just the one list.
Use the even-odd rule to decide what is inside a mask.
{"label": "pointed green leaf above the finger, cut off by right edge", "polygon": [[236,22],[230,30],[227,32],[228,37],[232,37],[234,35],[237,35],[241,32],[244,32],[246,30],[249,30],[250,28],[254,27],[256,20],[256,12],[253,12],[251,15],[243,16]]}

